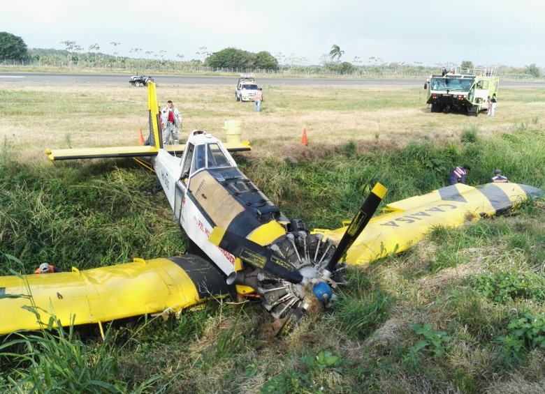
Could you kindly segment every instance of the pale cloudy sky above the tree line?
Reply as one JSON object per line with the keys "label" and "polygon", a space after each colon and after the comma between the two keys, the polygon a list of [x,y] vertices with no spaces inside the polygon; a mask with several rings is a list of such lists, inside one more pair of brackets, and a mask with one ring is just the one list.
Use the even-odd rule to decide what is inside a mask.
{"label": "pale cloudy sky above the tree line", "polygon": [[29,49],[70,40],[147,59],[235,47],[311,65],[339,45],[342,61],[363,65],[545,68],[542,0],[27,0],[0,6],[0,31]]}

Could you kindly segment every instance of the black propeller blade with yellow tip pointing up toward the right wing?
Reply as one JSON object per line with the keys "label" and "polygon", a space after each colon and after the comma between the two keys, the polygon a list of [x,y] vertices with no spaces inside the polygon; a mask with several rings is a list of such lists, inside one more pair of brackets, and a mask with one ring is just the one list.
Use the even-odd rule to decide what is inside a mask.
{"label": "black propeller blade with yellow tip pointing up toward the right wing", "polygon": [[372,218],[372,215],[377,211],[380,202],[386,195],[386,189],[380,183],[377,183],[371,190],[370,195],[365,199],[363,204],[361,204],[360,209],[354,216],[354,219],[350,222],[350,225],[347,228],[347,232],[342,236],[337,249],[333,253],[327,269],[329,272],[335,270],[335,266],[339,262],[342,256],[349,250],[352,243],[356,241],[356,238],[361,234],[365,226],[368,224],[369,220]]}

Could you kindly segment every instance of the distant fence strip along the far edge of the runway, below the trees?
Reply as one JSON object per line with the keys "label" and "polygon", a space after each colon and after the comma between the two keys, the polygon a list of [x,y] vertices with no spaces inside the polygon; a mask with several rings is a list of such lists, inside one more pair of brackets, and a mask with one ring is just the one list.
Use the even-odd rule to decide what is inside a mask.
{"label": "distant fence strip along the far edge of the runway, below the trees", "polygon": [[[203,66],[187,66],[184,63],[175,61],[150,62],[142,59],[133,59],[130,61],[119,61],[118,63],[89,63],[87,61],[72,61],[68,64],[67,61],[59,59],[51,59],[47,63],[43,61],[15,61],[3,60],[0,61],[0,67],[17,68],[36,70],[112,70],[112,72],[126,73],[212,73],[212,74],[241,74],[241,75],[278,75],[289,77],[344,77],[344,78],[400,78],[400,79],[422,79],[426,80],[430,77],[430,70],[415,72],[414,70],[403,70],[384,68],[377,70],[365,70],[359,68],[350,73],[338,73],[320,66],[298,66],[298,67],[282,67],[280,70],[266,70],[260,68],[211,68]],[[545,82],[545,77],[533,77],[527,74],[512,74],[498,73],[500,79],[528,82]]]}

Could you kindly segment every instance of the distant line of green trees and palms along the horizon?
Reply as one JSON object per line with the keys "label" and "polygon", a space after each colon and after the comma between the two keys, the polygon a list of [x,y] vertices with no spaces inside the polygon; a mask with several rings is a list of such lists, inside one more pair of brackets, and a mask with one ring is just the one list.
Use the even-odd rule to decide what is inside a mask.
{"label": "distant line of green trees and palms along the horizon", "polygon": [[[199,47],[198,54],[201,59],[191,59],[184,61],[184,55],[177,54],[180,60],[166,59],[166,51],[159,50],[143,51],[142,48],[133,48],[129,52],[130,56],[119,56],[117,46],[121,43],[112,41],[114,52],[106,54],[100,52],[99,43],[93,43],[84,48],[73,40],[61,41],[65,46],[64,50],[54,49],[29,49],[20,37],[8,33],[0,32],[0,64],[2,61],[8,61],[22,65],[55,66],[55,67],[79,67],[79,68],[124,68],[135,70],[202,70],[202,69],[225,69],[225,70],[297,70],[309,73],[331,73],[338,75],[350,74],[426,74],[437,72],[438,69],[446,67],[460,68],[465,70],[475,68],[472,61],[462,61],[455,63],[436,63],[434,67],[423,66],[421,63],[394,62],[387,63],[384,59],[370,56],[367,64],[358,56],[354,56],[351,61],[344,61],[344,50],[339,45],[333,44],[328,54],[321,56],[319,65],[310,65],[308,59],[298,57],[294,54],[284,55],[282,53],[273,56],[270,52],[261,51],[257,53],[239,50],[235,47],[228,47],[218,52],[210,53],[208,48]],[[477,66],[477,68],[491,68],[491,66]],[[496,66],[500,74],[521,75],[525,77],[539,78],[543,75],[543,70],[535,63],[523,68],[510,66]]]}

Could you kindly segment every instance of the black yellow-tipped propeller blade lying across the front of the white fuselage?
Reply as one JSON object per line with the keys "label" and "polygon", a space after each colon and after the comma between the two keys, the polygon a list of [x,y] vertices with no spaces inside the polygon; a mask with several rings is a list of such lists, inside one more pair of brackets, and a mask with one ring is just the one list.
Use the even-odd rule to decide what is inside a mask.
{"label": "black yellow-tipped propeller blade lying across the front of the white fuselage", "polygon": [[291,283],[300,283],[303,280],[303,275],[290,262],[275,255],[272,250],[259,245],[259,243],[250,241],[248,238],[214,227],[208,241],[277,278],[282,278]]}

